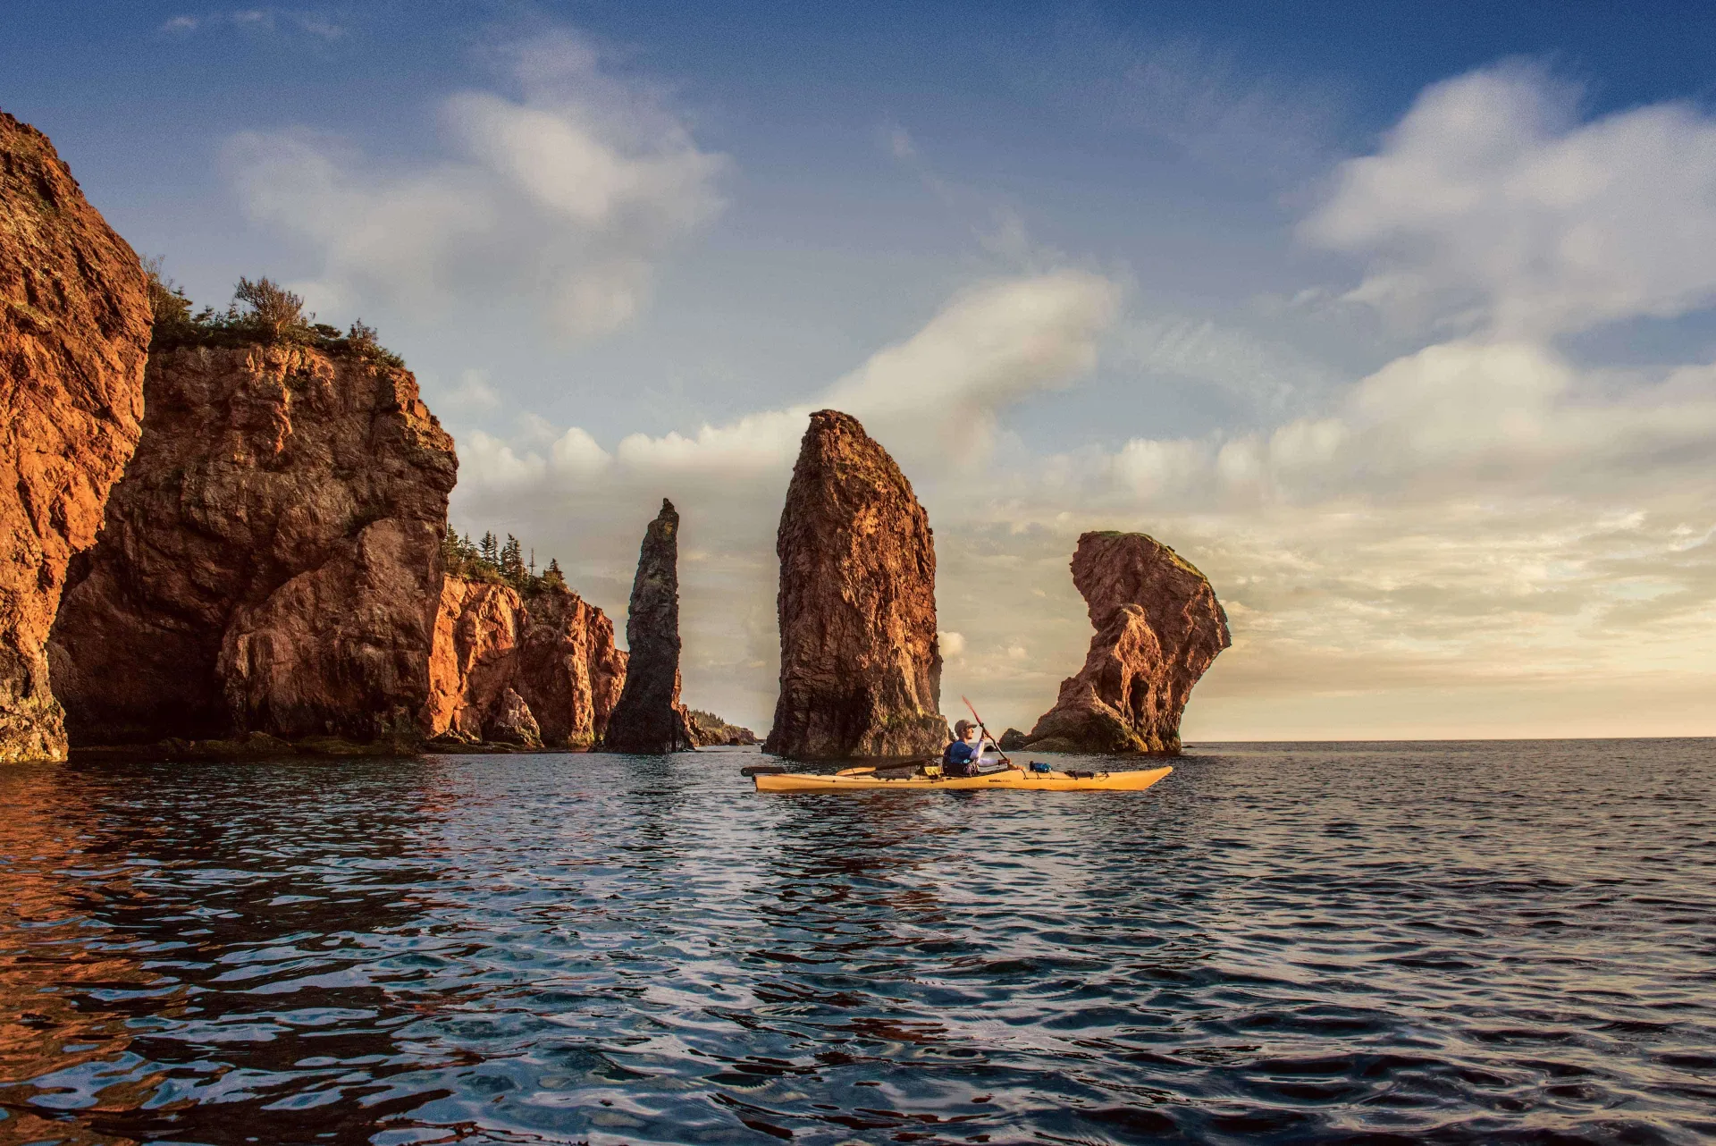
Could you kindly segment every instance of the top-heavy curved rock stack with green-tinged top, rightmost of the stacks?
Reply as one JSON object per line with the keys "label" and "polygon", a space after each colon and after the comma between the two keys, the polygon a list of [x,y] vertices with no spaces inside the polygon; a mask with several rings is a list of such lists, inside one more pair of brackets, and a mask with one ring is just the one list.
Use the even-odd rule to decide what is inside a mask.
{"label": "top-heavy curved rock stack with green-tinged top, rightmost of the stacks", "polygon": [[1097,626],[1078,676],[1031,729],[1040,751],[1179,755],[1193,685],[1232,640],[1203,573],[1143,534],[1085,534],[1072,583]]}

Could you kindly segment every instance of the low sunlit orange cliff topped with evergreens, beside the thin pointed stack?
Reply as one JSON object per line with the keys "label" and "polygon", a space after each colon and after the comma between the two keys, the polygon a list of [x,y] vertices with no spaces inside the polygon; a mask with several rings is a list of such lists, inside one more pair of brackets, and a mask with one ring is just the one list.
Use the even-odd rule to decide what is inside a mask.
{"label": "low sunlit orange cliff topped with evergreens, beside the thin pointed stack", "polygon": [[[626,678],[614,624],[570,588],[520,594],[448,576],[436,612],[427,733],[463,741],[589,748],[607,731]],[[523,714],[508,697],[517,697]]]}

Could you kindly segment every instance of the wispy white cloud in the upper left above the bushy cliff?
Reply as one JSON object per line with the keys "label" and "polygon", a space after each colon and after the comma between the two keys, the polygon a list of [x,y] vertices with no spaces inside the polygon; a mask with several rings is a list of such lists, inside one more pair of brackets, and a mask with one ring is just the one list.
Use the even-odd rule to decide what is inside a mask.
{"label": "wispy white cloud in the upper left above the bushy cliff", "polygon": [[726,158],[647,84],[611,75],[568,33],[503,57],[518,94],[443,101],[438,163],[388,170],[307,129],[228,142],[247,213],[321,257],[299,283],[312,304],[523,299],[561,335],[601,335],[647,305],[656,262],[721,211]]}

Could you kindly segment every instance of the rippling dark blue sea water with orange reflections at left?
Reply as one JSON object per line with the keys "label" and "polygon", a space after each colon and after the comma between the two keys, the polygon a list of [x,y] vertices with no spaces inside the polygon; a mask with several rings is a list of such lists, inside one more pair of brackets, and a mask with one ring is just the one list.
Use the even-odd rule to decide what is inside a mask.
{"label": "rippling dark blue sea water with orange reflections at left", "polygon": [[1716,743],[0,772],[0,1141],[1716,1136]]}

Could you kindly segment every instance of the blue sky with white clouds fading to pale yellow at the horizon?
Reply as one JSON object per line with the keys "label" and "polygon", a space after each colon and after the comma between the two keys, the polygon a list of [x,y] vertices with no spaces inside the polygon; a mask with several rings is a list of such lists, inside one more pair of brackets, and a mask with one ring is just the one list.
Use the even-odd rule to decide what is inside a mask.
{"label": "blue sky with white clouds fading to pale yellow at the horizon", "polygon": [[623,628],[676,503],[693,707],[769,724],[836,407],[951,715],[1050,707],[1121,528],[1229,614],[1187,741],[1716,734],[1711,5],[7,9],[141,254],[405,357],[458,528]]}

